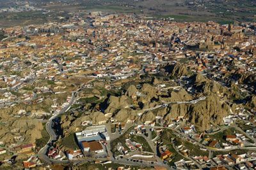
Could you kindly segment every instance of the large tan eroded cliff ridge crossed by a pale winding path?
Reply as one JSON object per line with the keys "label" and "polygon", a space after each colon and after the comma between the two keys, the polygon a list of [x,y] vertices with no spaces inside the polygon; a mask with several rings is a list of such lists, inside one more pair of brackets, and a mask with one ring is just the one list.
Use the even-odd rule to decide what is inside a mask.
{"label": "large tan eroded cliff ridge crossed by a pale winding path", "polygon": [[[200,101],[196,104],[171,104],[165,108],[159,108],[154,111],[148,111],[141,115],[140,120],[154,121],[156,116],[164,117],[165,120],[171,121],[173,118],[183,116],[188,118],[191,124],[195,124],[202,129],[207,129],[211,125],[210,122],[214,124],[222,124],[223,117],[226,117],[230,113],[230,109],[234,110],[236,107],[230,107],[224,101],[221,101],[220,97],[216,92],[224,92],[227,89],[223,89],[218,83],[212,83],[207,80],[202,75],[195,76],[195,85],[200,87],[202,85],[202,90],[207,98],[204,101]],[[141,106],[141,110],[132,110],[131,108],[125,108],[128,104],[124,101],[129,101],[131,96],[136,96],[136,92],[140,92],[141,96],[138,96],[135,103]],[[159,105],[160,103],[169,103],[177,101],[191,101],[194,97],[184,89],[179,91],[170,91],[169,96],[161,97],[161,92],[149,84],[144,84],[141,89],[136,89],[136,87],[131,86],[128,88],[124,96],[111,97],[108,101],[108,109],[116,114],[114,118],[120,122],[126,122],[128,119],[138,118],[138,113],[143,112],[147,108],[152,108]],[[122,102],[120,102],[122,101]]]}

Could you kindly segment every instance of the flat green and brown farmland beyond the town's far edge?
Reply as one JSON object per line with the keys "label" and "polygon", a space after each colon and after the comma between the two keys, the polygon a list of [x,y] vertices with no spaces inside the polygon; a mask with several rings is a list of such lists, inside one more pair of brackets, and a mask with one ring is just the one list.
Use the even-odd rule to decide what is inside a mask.
{"label": "flat green and brown farmland beyond the town's far edge", "polygon": [[[22,6],[28,4],[26,2],[0,0],[0,8]],[[52,21],[77,11],[81,14],[90,11],[134,13],[154,19],[172,18],[177,22],[208,22],[209,20],[220,24],[230,24],[235,21],[256,22],[256,1],[253,0],[30,0],[29,5],[44,8],[51,13],[49,15],[44,15],[40,11],[8,12],[3,15],[0,13],[0,27]]]}

